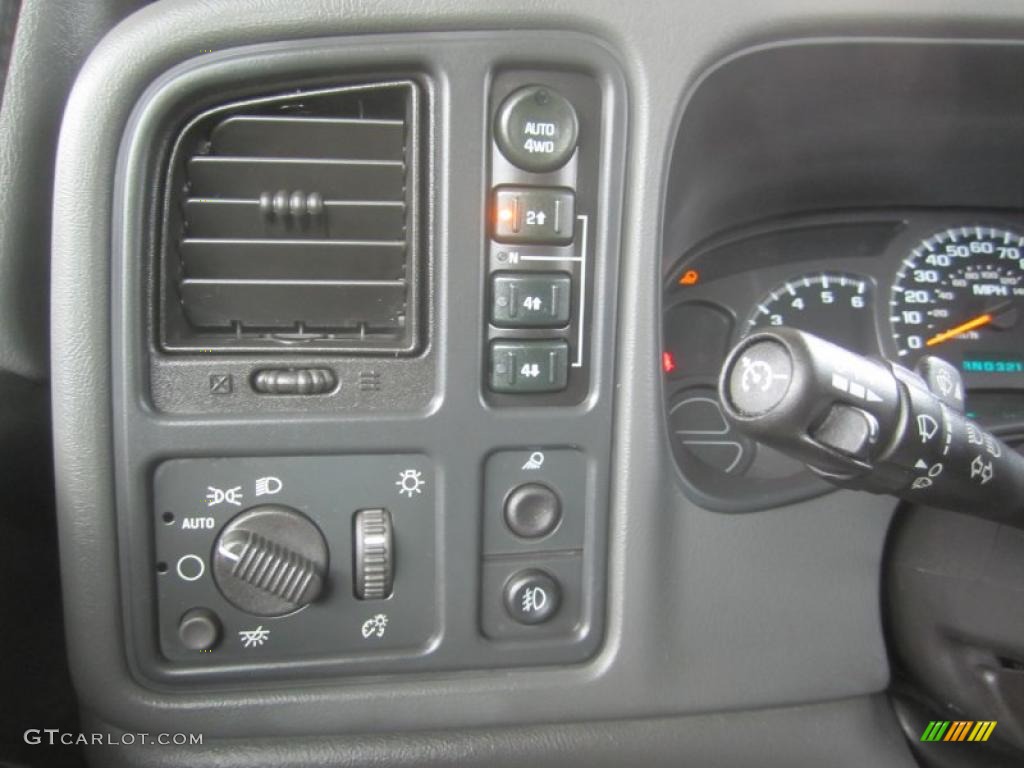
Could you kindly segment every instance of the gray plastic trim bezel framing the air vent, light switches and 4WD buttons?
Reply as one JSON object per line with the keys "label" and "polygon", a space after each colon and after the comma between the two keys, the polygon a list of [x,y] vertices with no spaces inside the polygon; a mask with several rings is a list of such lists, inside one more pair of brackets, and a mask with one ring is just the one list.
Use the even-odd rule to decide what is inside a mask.
{"label": "gray plastic trim bezel framing the air vent, light switches and 4WD buttons", "polygon": [[[176,683],[191,682],[194,686],[199,686],[204,680],[211,684],[222,682],[215,680],[215,675],[230,674],[251,687],[253,674],[275,675],[279,678],[288,676],[291,679],[304,676],[307,680],[322,680],[331,675],[344,674],[346,670],[348,674],[369,676],[439,668],[532,667],[556,662],[571,664],[594,654],[601,641],[604,620],[603,610],[595,608],[604,603],[608,483],[605,468],[610,461],[613,396],[613,347],[610,341],[614,307],[602,297],[614,295],[617,272],[617,190],[622,187],[623,146],[614,146],[612,137],[621,135],[624,130],[625,100],[622,97],[621,75],[603,47],[574,36],[562,39],[560,48],[552,51],[546,45],[546,37],[520,41],[507,33],[375,36],[353,40],[286,41],[228,49],[193,58],[166,73],[146,90],[135,108],[125,130],[119,157],[119,176],[115,182],[112,251],[116,278],[112,288],[112,338],[115,474],[120,511],[118,536],[123,545],[127,543],[119,554],[125,595],[124,621],[132,627],[127,656],[136,678],[147,680],[147,684],[154,687],[173,690]],[[480,253],[479,244],[484,238],[481,231],[483,216],[480,213],[483,206],[471,203],[482,203],[485,187],[474,164],[466,162],[467,158],[482,156],[479,140],[484,131],[480,119],[461,119],[460,115],[482,115],[481,99],[488,79],[496,71],[509,72],[523,62],[548,62],[544,66],[552,68],[552,78],[565,78],[571,72],[578,72],[581,78],[592,78],[595,88],[602,93],[601,99],[608,104],[602,118],[607,121],[605,127],[599,133],[595,131],[591,140],[592,152],[601,156],[604,175],[599,183],[582,184],[578,198],[579,210],[593,211],[595,220],[604,222],[602,237],[592,241],[593,250],[588,249],[588,258],[597,267],[590,281],[590,285],[596,287],[591,292],[595,318],[588,329],[588,338],[592,341],[586,345],[587,367],[593,386],[588,389],[583,382],[588,396],[579,404],[559,407],[551,403],[546,408],[528,409],[523,408],[525,403],[520,401],[514,403],[515,407],[488,408],[480,395],[478,376],[474,375],[482,368],[478,318],[483,315],[485,299],[478,268],[483,259],[474,258],[474,254]],[[433,319],[430,343],[416,357],[381,360],[384,366],[379,372],[384,377],[383,389],[387,395],[384,402],[389,406],[386,411],[381,410],[379,402],[371,407],[353,386],[351,374],[368,365],[367,358],[356,357],[338,361],[322,358],[321,364],[340,369],[341,388],[351,390],[348,402],[335,401],[334,397],[324,397],[318,402],[285,397],[268,401],[274,398],[249,394],[246,409],[243,404],[246,398],[239,392],[236,404],[218,411],[210,406],[211,399],[218,398],[208,393],[208,374],[233,369],[237,380],[244,381],[247,378],[245,367],[253,365],[248,356],[207,354],[199,360],[200,365],[208,366],[206,370],[179,371],[174,377],[166,377],[161,374],[160,368],[166,366],[171,356],[147,349],[152,336],[146,333],[144,324],[137,321],[146,316],[142,287],[153,280],[146,275],[148,245],[144,237],[144,222],[151,214],[142,201],[159,184],[156,180],[159,178],[156,162],[159,152],[156,147],[161,145],[160,137],[167,131],[165,126],[172,124],[173,116],[180,115],[174,108],[169,108],[168,102],[180,109],[181,102],[195,103],[197,99],[208,97],[202,94],[209,92],[219,95],[231,88],[266,87],[271,78],[284,78],[284,83],[301,83],[304,78],[323,77],[323,73],[338,73],[335,77],[357,77],[359,73],[370,73],[369,76],[373,77],[378,71],[395,67],[423,71],[424,79],[430,82],[425,90],[430,92],[432,104],[430,117],[425,122],[429,123],[432,138],[428,143],[432,146],[434,162],[428,166],[426,175],[432,190],[429,206],[434,216],[426,228],[430,232],[428,251],[437,254],[430,270],[430,283],[436,285],[436,289],[424,292],[424,299],[431,306],[428,316]],[[564,72],[559,74],[559,69]],[[392,73],[388,74],[391,76]],[[527,74],[526,77],[537,75]],[[577,103],[583,106],[579,96]],[[581,114],[586,115],[584,112]],[[596,122],[596,119],[585,118],[584,125]],[[601,200],[595,201],[593,199],[599,197],[596,194],[598,189],[607,190],[607,194],[602,194]],[[583,194],[585,190],[590,194]],[[190,361],[195,364],[197,358]],[[180,359],[175,358],[169,365],[176,368],[179,362]],[[391,365],[390,372],[385,368],[388,364]],[[373,365],[377,365],[376,359]],[[221,366],[224,368],[221,369]],[[350,370],[345,371],[343,366]],[[150,373],[154,374],[150,380],[155,382],[155,389],[160,386],[177,390],[183,393],[179,397],[183,402],[188,401],[189,392],[198,390],[203,394],[194,397],[190,408],[183,413],[165,412],[167,399],[158,397],[152,390],[147,391],[143,383]],[[162,378],[170,379],[170,385],[158,384]],[[202,410],[202,404],[206,406],[205,410]],[[467,439],[467,435],[472,435],[472,439]],[[402,447],[399,450],[398,445]],[[489,589],[478,597],[474,574],[481,518],[481,465],[485,456],[496,450],[521,451],[518,464],[521,467],[534,451],[569,446],[578,449],[594,468],[593,480],[580,483],[578,487],[569,487],[567,481],[556,483],[560,484],[563,493],[579,496],[586,511],[586,537],[574,544],[581,550],[581,563],[561,577],[563,587],[567,594],[571,593],[572,599],[565,601],[558,620],[544,628],[538,627],[529,632],[506,628],[495,633],[492,631],[495,625],[486,620],[485,614],[488,605],[500,602],[501,585],[488,581]],[[150,504],[150,477],[157,462],[185,456],[209,459],[215,456],[276,453],[279,456],[340,457],[358,454],[381,456],[395,451],[423,454],[429,458],[434,470],[427,474],[435,478],[429,483],[436,492],[436,509],[443,510],[436,526],[437,564],[428,572],[430,581],[436,583],[429,598],[436,601],[438,616],[436,632],[432,633],[435,637],[433,642],[404,658],[401,654],[375,653],[366,645],[350,646],[344,650],[343,643],[339,643],[332,652],[332,635],[327,632],[324,636],[322,632],[319,648],[324,666],[318,669],[313,666],[315,662],[309,658],[306,660],[310,664],[303,665],[297,664],[295,658],[278,656],[281,669],[274,670],[267,656],[267,664],[261,670],[261,662],[251,653],[231,658],[232,652],[227,650],[226,642],[211,655],[194,654],[190,659],[177,657],[171,664],[165,663],[166,657],[174,654],[168,652],[166,643],[163,652],[154,645],[155,593],[152,587],[147,588],[157,564],[154,559],[157,553],[151,548],[153,525],[146,516],[137,514]],[[332,476],[334,473],[327,472],[325,475]],[[509,482],[514,481],[517,480],[509,479]],[[383,494],[385,489],[394,495],[398,493],[393,486],[393,479],[377,484],[377,493]],[[329,504],[329,498],[331,496],[325,494],[317,508]],[[387,495],[380,496],[371,506],[385,504],[388,498]],[[331,537],[328,539],[334,551],[332,557],[342,561],[345,557],[343,553],[349,548],[347,537],[339,532],[333,542]],[[423,560],[424,553],[417,552],[415,558],[402,556],[399,561],[413,563],[416,559]],[[515,562],[523,567],[543,565],[536,550],[530,552],[529,548],[518,553]],[[510,560],[503,567],[512,565],[514,562]],[[157,567],[157,581],[166,582],[159,575]],[[484,569],[494,577],[493,569]],[[164,571],[165,574],[170,572],[169,567]],[[504,575],[511,573],[505,572]],[[172,580],[176,578],[177,574],[172,573]],[[213,586],[200,580],[188,587],[201,589],[204,584]],[[581,585],[580,589],[573,588],[577,584]],[[587,594],[580,595],[584,590]],[[215,593],[204,595],[198,591],[193,592],[190,598],[184,595],[179,597],[201,600],[207,605],[210,605],[211,599],[216,599]],[[575,600],[575,597],[581,599]],[[331,599],[326,598],[321,607],[332,615],[335,611],[344,614],[335,617],[344,624],[352,624],[348,628],[351,631],[357,630],[366,620],[362,616],[355,623],[356,612],[361,610],[357,606],[345,610],[337,606],[329,607],[327,603],[330,602]],[[176,622],[177,615],[168,615],[167,603],[163,599],[159,603],[162,623],[166,626]],[[483,614],[481,624],[488,629],[484,634],[489,640],[484,640],[474,631],[473,608],[477,603]],[[408,615],[411,624],[417,624],[412,615],[416,609],[407,603],[404,608],[395,606],[395,610],[389,613],[392,627],[401,623],[401,614],[407,610],[411,611]],[[225,621],[227,615],[223,614]],[[308,618],[311,614],[306,612],[304,615]],[[237,618],[242,621],[241,616]],[[306,618],[285,620],[284,624],[302,625]],[[236,632],[241,629],[240,625],[228,631],[225,624],[225,636],[234,640]],[[293,636],[298,642],[297,638],[303,632],[294,626],[293,629],[298,633]],[[278,636],[284,635],[279,633]],[[293,646],[292,655],[301,653],[300,648],[301,643]],[[309,650],[311,647],[306,648],[306,651]],[[226,667],[236,669],[218,672],[218,658]],[[233,664],[228,665],[228,659]],[[306,669],[301,669],[304,666]]]}

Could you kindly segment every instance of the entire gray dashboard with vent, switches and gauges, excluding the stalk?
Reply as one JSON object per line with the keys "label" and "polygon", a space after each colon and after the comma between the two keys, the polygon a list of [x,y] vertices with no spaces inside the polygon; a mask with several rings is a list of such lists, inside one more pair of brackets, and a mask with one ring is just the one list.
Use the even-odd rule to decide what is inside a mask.
{"label": "entire gray dashboard with vent, switches and gauges, excluding the stalk", "polygon": [[[1024,434],[1024,18],[819,5],[165,0],[111,29],[53,195],[68,655],[90,726],[207,741],[97,764],[905,768],[905,648],[1019,672],[1004,624],[955,666],[907,609],[895,646],[906,506],[717,400],[786,326],[934,352]],[[959,532],[907,537],[906,579],[998,537],[1019,595],[1016,540],[921,554],[971,534],[928,519]]]}

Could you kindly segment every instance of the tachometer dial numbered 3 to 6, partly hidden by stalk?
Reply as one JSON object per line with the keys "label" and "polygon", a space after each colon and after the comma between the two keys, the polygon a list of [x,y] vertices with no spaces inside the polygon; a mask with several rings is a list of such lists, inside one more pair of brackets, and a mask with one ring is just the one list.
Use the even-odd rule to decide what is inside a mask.
{"label": "tachometer dial numbered 3 to 6, partly hidden by stalk", "polygon": [[820,272],[786,281],[754,308],[743,336],[761,328],[790,326],[862,353],[878,351],[866,280]]}

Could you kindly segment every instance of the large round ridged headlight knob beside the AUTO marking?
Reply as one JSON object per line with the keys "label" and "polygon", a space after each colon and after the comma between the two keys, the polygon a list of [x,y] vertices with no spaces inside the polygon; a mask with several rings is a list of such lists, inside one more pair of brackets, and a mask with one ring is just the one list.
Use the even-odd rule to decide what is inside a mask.
{"label": "large round ridged headlight knob beside the AUTO marking", "polygon": [[328,548],[319,528],[298,510],[278,504],[234,517],[213,548],[213,578],[237,608],[283,616],[324,590]]}

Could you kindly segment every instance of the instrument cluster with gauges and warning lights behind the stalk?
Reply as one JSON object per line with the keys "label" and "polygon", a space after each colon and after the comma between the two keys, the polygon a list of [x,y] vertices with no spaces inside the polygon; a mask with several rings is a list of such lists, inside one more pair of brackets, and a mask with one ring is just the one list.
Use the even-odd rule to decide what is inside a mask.
{"label": "instrument cluster with gauges and warning lights behind the stalk", "polygon": [[817,487],[799,464],[734,433],[717,401],[726,352],[772,327],[810,331],[907,368],[937,355],[961,372],[972,418],[995,428],[1019,424],[1022,223],[970,210],[820,214],[730,231],[683,254],[665,288],[662,367],[684,473],[699,482],[696,458],[723,475],[796,475]]}

